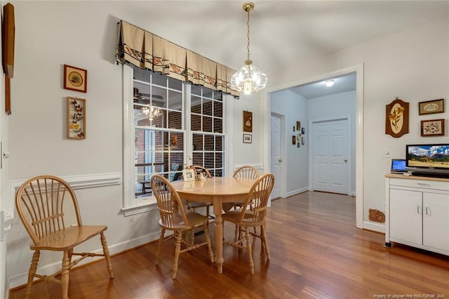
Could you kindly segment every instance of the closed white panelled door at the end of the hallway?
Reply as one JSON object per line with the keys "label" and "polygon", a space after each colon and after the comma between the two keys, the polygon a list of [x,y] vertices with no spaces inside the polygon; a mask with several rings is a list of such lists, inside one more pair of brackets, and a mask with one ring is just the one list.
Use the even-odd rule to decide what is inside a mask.
{"label": "closed white panelled door at the end of the hallway", "polygon": [[348,194],[348,120],[313,124],[313,186],[316,191]]}

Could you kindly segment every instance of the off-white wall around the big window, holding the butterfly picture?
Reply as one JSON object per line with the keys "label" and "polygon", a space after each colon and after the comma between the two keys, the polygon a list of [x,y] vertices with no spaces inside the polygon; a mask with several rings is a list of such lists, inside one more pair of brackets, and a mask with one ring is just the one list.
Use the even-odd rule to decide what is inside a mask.
{"label": "off-white wall around the big window, holding the butterfly picture", "polygon": [[[116,23],[128,20],[170,39],[173,20],[155,21],[147,15],[135,15],[126,9],[126,1],[11,2],[15,6],[16,36],[15,77],[11,81],[13,114],[8,117],[8,180],[17,182],[46,173],[62,177],[122,173],[122,74],[114,57]],[[87,69],[87,93],[62,88],[65,64]],[[67,96],[86,99],[86,140],[66,138]],[[255,99],[257,95],[232,99],[236,121],[229,132],[235,135],[231,164],[263,167],[263,134],[258,130],[262,114],[260,102]],[[241,141],[243,109],[253,112],[250,145]],[[111,253],[157,239],[160,232],[157,211],[123,216],[122,188],[111,185],[76,190],[83,223],[108,225],[106,237]],[[2,197],[2,206],[5,201],[14,214],[11,194]],[[26,282],[32,252],[17,216],[8,235],[8,277],[10,287],[14,287]],[[93,240],[79,250],[100,248],[100,242]],[[50,272],[60,267],[60,260],[60,254],[44,253],[39,267]]]}

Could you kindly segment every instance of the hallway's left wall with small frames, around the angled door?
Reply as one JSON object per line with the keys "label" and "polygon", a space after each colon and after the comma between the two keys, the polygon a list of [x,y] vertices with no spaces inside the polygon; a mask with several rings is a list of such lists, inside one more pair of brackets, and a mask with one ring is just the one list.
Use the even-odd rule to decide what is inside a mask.
{"label": "hallway's left wall with small frames, around the angled door", "polygon": [[[287,171],[287,190],[286,196],[291,196],[304,192],[309,188],[309,138],[307,128],[309,118],[307,115],[307,100],[292,91],[279,91],[272,93],[272,112],[281,114],[285,117],[286,125],[283,127],[284,140],[286,140],[286,154],[283,157],[283,167]],[[296,131],[296,121],[301,121],[306,134],[305,145],[297,147],[292,144],[292,136],[297,136],[300,132]],[[293,126],[295,131],[293,132]],[[282,139],[282,138],[281,138]]]}

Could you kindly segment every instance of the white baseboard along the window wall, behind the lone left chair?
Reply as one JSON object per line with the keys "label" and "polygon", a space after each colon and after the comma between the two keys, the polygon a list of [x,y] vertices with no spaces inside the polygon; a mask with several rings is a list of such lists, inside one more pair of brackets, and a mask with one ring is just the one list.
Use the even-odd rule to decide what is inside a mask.
{"label": "white baseboard along the window wall, behind the lone left chair", "polygon": [[[141,237],[138,237],[135,239],[130,239],[130,240],[123,241],[123,242],[120,242],[117,244],[112,244],[112,245],[108,244],[109,254],[114,255],[116,253],[121,253],[130,248],[134,248],[134,247],[146,244],[149,241],[157,240],[157,239],[159,239],[160,234],[161,234],[161,232],[158,231],[158,232],[154,232],[152,234],[146,234],[145,236],[141,236]],[[75,248],[75,251],[76,251],[76,248]],[[100,247],[93,252],[94,253],[102,253],[103,250],[101,248],[101,244],[100,244]],[[61,255],[61,257],[62,257],[62,255]],[[98,260],[100,258],[102,258],[102,257],[86,258],[84,260],[81,260],[81,262],[79,262],[79,264],[76,265],[76,267],[79,267],[86,263],[91,263],[94,260]],[[29,260],[29,262],[31,263],[31,260]],[[61,269],[60,262],[49,263],[47,265],[41,265],[39,263],[39,271],[38,272],[39,272],[39,274],[49,275],[49,274],[53,274],[53,273],[59,271],[60,269]],[[112,262],[112,270],[114,270],[114,262]],[[105,267],[105,273],[107,273],[106,267]],[[9,277],[8,288],[15,288],[17,286],[22,286],[27,283],[27,279],[28,279],[28,272],[22,272],[20,274],[11,276],[11,277]]]}

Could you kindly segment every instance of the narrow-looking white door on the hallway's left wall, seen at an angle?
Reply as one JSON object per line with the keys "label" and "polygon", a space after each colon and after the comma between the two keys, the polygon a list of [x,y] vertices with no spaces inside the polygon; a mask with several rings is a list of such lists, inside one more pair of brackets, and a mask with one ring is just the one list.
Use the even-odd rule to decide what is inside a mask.
{"label": "narrow-looking white door on the hallway's left wall, seen at an angle", "polygon": [[274,186],[272,199],[281,196],[279,181],[281,177],[281,119],[272,115],[272,173],[274,175]]}

